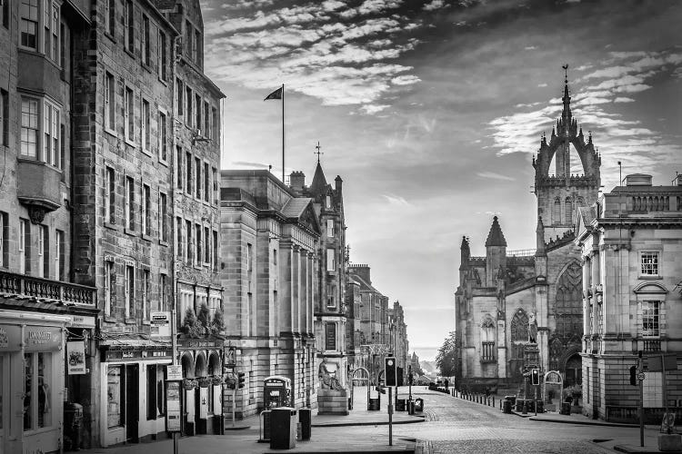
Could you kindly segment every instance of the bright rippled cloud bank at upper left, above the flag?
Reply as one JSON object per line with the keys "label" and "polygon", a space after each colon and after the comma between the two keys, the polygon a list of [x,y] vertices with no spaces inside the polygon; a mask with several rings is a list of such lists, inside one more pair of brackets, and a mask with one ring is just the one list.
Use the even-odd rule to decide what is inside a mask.
{"label": "bright rippled cloud bank at upper left, above the flag", "polygon": [[[377,103],[396,87],[420,81],[413,68],[396,61],[419,40],[410,31],[422,25],[405,15],[386,13],[402,0],[365,0],[350,8],[326,0],[288,7],[236,9],[206,24],[206,70],[212,79],[267,90],[284,81],[287,90],[313,96],[324,105]],[[344,17],[353,17],[347,22]],[[230,55],[229,59],[224,55]]]}

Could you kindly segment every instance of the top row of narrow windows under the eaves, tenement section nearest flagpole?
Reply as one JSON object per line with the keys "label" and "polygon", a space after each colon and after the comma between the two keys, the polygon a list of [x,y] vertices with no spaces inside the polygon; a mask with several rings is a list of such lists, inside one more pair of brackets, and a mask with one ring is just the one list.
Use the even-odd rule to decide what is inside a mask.
{"label": "top row of narrow windows under the eaves, tenement section nearest flagpole", "polygon": [[218,110],[201,94],[176,78],[176,114],[185,117],[187,127],[198,130],[199,135],[217,142],[220,126]]}

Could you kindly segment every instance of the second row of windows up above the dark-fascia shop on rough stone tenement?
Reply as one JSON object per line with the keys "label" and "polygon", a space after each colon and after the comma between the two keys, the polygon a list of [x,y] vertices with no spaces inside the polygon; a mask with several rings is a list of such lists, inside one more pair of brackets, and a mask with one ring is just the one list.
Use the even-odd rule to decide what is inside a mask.
{"label": "second row of windows up above the dark-fascia shop on rough stone tenement", "polygon": [[[146,183],[139,184],[139,202],[137,202],[138,186],[132,176],[124,178],[124,220],[125,232],[135,233],[138,226],[145,236],[152,236],[152,188]],[[105,167],[105,222],[116,224],[116,173],[113,167]],[[138,218],[139,212],[139,218]],[[158,191],[158,239],[161,242],[168,241],[168,196],[165,192]]]}

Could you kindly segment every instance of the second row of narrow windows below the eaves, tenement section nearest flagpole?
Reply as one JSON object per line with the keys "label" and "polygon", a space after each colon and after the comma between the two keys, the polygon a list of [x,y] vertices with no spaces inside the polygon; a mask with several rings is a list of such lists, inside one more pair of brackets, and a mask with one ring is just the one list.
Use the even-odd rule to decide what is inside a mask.
{"label": "second row of narrow windows below the eaves, tenement section nearest flagpole", "polygon": [[[200,157],[176,146],[176,184],[180,191],[198,200],[217,203],[218,171]],[[211,194],[213,193],[213,198]]]}

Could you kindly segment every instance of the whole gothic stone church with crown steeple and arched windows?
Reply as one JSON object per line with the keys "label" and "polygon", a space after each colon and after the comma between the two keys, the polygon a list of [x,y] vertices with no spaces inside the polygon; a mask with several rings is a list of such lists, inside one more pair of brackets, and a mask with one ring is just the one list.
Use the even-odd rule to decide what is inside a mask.
{"label": "whole gothic stone church with crown steeple and arched windows", "polygon": [[532,368],[543,375],[559,372],[564,386],[581,383],[582,268],[573,240],[578,207],[597,200],[601,158],[592,133],[586,138],[571,113],[567,79],[561,116],[549,139],[543,133],[533,157],[535,251],[507,250],[497,216],[485,257],[472,256],[469,239],[462,239],[456,290],[460,388],[525,391],[530,397],[524,372]]}

